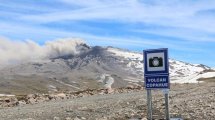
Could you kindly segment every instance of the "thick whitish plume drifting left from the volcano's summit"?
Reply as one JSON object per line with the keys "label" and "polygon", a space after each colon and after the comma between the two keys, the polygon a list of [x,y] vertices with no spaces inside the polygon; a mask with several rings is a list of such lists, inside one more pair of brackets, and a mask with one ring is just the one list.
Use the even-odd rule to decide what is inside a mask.
{"label": "thick whitish plume drifting left from the volcano's summit", "polygon": [[74,55],[79,53],[77,46],[81,44],[85,42],[79,38],[58,39],[44,45],[33,41],[12,41],[0,38],[0,64]]}

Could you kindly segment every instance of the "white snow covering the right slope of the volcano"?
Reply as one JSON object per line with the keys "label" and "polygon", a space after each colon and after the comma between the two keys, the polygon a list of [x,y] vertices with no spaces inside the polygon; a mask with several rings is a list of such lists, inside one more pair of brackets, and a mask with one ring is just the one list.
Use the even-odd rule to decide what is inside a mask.
{"label": "white snow covering the right slope of the volcano", "polygon": [[[112,52],[113,55],[122,57],[125,60],[128,60],[127,67],[135,67],[138,71],[143,71],[143,54],[129,52],[125,50],[120,50],[117,48],[108,48],[109,52]],[[196,83],[200,78],[214,77],[215,72],[206,72],[206,70],[211,70],[210,67],[207,67],[202,64],[190,64],[182,61],[169,59],[170,63],[170,79],[171,82],[175,83]],[[202,73],[202,74],[201,74]]]}

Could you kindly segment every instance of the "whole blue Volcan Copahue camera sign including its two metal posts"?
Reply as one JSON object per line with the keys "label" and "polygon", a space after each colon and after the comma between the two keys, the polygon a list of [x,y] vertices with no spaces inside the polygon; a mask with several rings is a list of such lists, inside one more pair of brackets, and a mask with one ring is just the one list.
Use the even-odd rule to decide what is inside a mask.
{"label": "whole blue Volcan Copahue camera sign including its two metal posts", "polygon": [[152,89],[163,89],[165,95],[165,116],[169,117],[169,60],[168,49],[153,49],[144,51],[144,79],[147,90],[148,119],[152,120]]}

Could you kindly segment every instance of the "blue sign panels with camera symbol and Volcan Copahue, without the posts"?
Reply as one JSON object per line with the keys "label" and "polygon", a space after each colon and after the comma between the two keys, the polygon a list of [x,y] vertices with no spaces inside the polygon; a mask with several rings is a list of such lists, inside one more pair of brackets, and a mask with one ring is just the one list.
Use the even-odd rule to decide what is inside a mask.
{"label": "blue sign panels with camera symbol and Volcan Copahue, without the posts", "polygon": [[146,89],[169,89],[167,48],[144,51],[144,78]]}

